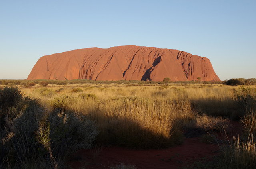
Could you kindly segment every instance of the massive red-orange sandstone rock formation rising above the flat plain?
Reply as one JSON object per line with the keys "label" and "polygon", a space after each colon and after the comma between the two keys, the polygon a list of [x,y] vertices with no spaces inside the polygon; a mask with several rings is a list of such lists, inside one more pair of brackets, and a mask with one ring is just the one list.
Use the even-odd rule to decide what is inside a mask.
{"label": "massive red-orange sandstone rock formation rising above the flat plain", "polygon": [[220,81],[206,57],[141,46],[86,48],[41,57],[28,79]]}

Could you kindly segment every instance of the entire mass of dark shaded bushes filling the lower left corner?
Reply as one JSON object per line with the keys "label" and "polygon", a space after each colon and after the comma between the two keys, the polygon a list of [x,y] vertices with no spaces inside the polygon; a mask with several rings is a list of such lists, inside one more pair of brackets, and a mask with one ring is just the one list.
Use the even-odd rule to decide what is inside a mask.
{"label": "entire mass of dark shaded bushes filling the lower left corner", "polygon": [[98,134],[90,120],[59,110],[47,112],[18,88],[1,89],[0,102],[2,168],[64,168],[66,155],[90,148]]}

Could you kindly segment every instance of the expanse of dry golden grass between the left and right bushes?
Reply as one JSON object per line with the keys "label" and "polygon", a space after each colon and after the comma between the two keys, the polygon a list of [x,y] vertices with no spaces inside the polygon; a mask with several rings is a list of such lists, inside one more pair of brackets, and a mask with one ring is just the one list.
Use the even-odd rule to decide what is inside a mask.
{"label": "expanse of dry golden grass between the left and right bushes", "polygon": [[[182,143],[181,130],[199,114],[231,116],[234,88],[200,84],[68,84],[22,88],[49,110],[78,112],[98,124],[99,143],[160,148]],[[62,90],[58,91],[60,88]],[[72,92],[81,88],[79,92]],[[88,97],[91,94],[93,97]],[[86,96],[86,97],[84,97]],[[201,115],[199,115],[201,116]],[[205,124],[211,122],[209,118]],[[219,119],[220,120],[220,119]],[[215,120],[216,121],[216,120]],[[218,120],[217,120],[218,121]],[[216,121],[216,123],[218,123]]]}

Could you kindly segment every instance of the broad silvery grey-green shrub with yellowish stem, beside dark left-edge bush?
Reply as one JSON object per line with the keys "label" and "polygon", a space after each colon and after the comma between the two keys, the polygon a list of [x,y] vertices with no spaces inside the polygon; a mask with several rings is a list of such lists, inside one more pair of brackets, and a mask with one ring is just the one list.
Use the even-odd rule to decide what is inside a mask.
{"label": "broad silvery grey-green shrub with yellowish stem, beside dark left-edge bush", "polygon": [[78,149],[89,149],[98,134],[96,126],[78,114],[45,112],[37,106],[20,112],[8,124],[6,137],[1,138],[4,143],[0,142],[5,152],[0,165],[11,159],[9,168],[26,168],[31,160],[38,163],[32,168],[42,162],[51,166],[46,168],[65,168],[65,158]]}

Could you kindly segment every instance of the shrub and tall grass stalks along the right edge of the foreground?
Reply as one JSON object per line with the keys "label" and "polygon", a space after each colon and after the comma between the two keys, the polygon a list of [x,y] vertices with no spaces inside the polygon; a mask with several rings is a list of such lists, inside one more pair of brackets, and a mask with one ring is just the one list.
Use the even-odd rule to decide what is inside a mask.
{"label": "shrub and tall grass stalks along the right edge of the foreground", "polygon": [[222,147],[222,161],[228,169],[256,168],[256,89],[241,86],[235,91],[234,102],[241,108],[243,134]]}

